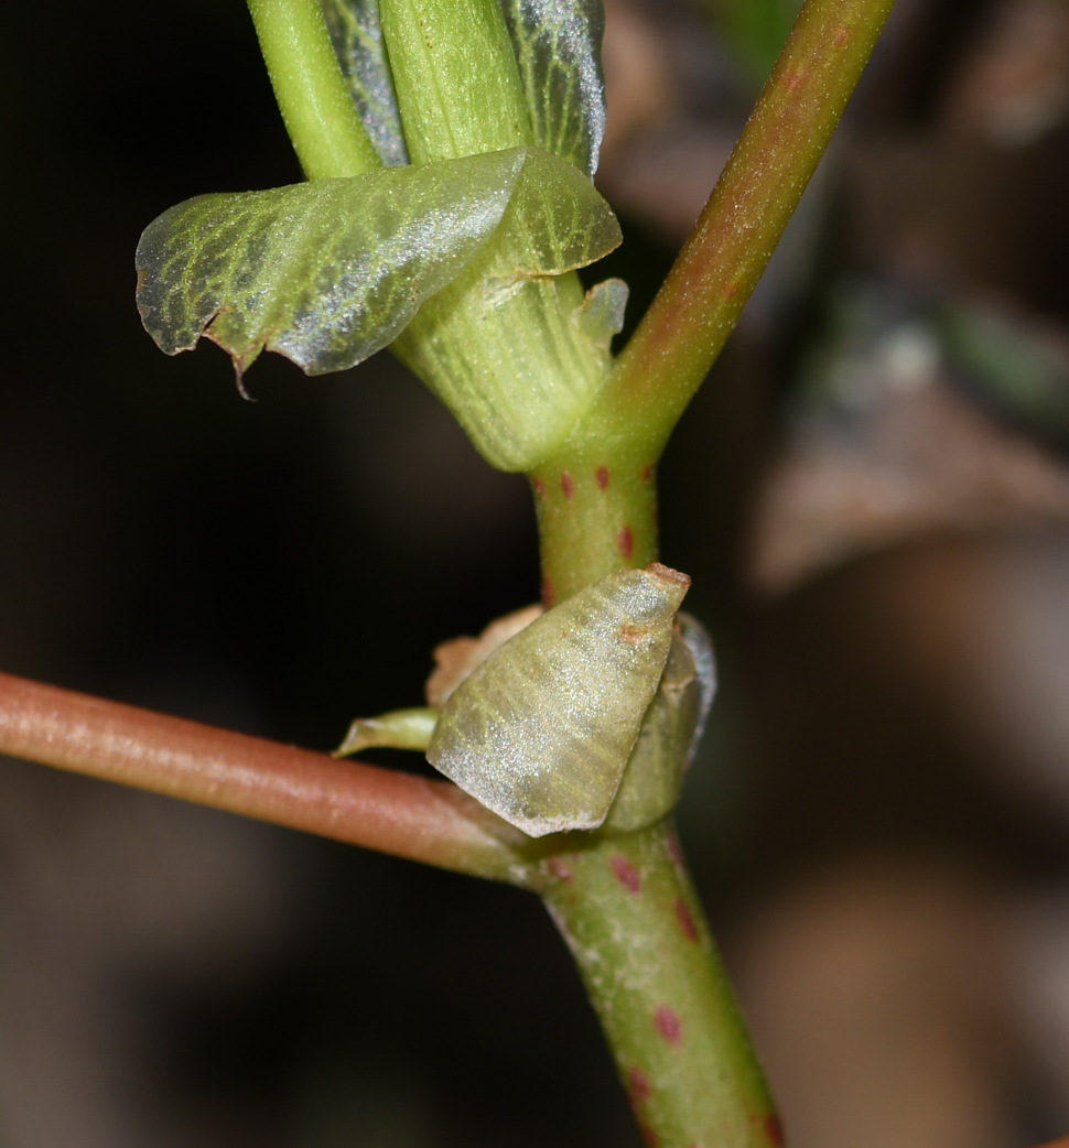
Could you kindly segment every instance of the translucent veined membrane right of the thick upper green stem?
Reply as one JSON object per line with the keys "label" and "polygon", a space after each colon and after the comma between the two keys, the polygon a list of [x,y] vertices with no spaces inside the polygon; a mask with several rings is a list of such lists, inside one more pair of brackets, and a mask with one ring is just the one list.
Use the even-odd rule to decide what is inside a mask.
{"label": "translucent veined membrane right of the thick upper green stem", "polygon": [[591,178],[605,134],[602,0],[501,0],[534,141]]}

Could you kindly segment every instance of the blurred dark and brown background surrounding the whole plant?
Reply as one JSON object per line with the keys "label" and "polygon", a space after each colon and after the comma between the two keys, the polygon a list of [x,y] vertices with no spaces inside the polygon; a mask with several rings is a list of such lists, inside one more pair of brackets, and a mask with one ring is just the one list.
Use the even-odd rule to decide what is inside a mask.
{"label": "blurred dark and brown background surrounding the whole plant", "polygon": [[[630,325],[795,8],[607,3]],[[133,305],[157,214],[299,178],[245,6],[7,24],[0,668],[323,750],[419,704],[537,596],[524,481],[386,354],[247,403]],[[795,1148],[1069,1131],[1067,202],[1067,0],[899,0],[661,468],[681,830]],[[0,1148],[637,1143],[534,898],[0,761]]]}

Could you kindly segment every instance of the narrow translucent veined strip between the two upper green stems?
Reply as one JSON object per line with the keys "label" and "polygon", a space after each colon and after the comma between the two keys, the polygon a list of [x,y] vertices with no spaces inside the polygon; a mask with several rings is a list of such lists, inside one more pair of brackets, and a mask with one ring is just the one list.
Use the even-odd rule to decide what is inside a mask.
{"label": "narrow translucent veined strip between the two upper green stems", "polygon": [[409,162],[389,70],[379,0],[319,0],[353,102],[382,162]]}

